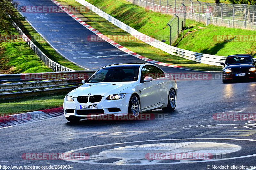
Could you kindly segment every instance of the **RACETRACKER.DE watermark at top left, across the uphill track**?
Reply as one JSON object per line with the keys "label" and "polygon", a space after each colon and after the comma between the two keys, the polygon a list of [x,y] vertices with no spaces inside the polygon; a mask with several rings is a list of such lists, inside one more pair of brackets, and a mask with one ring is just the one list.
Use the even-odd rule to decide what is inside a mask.
{"label": "RACETRACKER.DE watermark at top left, across the uphill track", "polygon": [[[92,9],[92,10],[90,10]],[[21,12],[61,13],[61,12],[102,12],[102,7],[95,6],[22,6]]]}

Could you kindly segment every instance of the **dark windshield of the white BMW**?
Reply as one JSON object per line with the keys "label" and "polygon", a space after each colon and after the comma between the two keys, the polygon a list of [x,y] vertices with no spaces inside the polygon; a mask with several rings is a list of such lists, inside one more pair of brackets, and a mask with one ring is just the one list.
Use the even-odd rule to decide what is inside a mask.
{"label": "dark windshield of the white BMW", "polygon": [[139,67],[109,67],[98,70],[86,83],[137,81]]}

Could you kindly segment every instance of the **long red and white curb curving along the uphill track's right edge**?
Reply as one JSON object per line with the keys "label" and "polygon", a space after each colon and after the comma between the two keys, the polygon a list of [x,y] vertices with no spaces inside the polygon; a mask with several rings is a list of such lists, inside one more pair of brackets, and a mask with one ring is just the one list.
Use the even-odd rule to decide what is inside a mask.
{"label": "long red and white curb curving along the uphill track's right edge", "polygon": [[98,35],[101,39],[107,41],[108,43],[110,43],[111,45],[115,46],[116,48],[119,48],[120,50],[124,51],[125,53],[130,54],[130,55],[132,55],[132,56],[134,56],[136,58],[139,58],[141,60],[144,60],[144,61],[147,61],[147,62],[150,62],[150,63],[155,63],[155,64],[167,66],[167,67],[182,68],[182,66],[179,66],[179,65],[168,64],[168,63],[163,63],[163,62],[159,62],[159,61],[156,61],[156,60],[149,59],[147,57],[144,57],[142,55],[139,55],[139,54],[131,51],[128,48],[125,48],[125,47],[121,46],[117,42],[115,42],[115,41],[111,40],[110,38],[108,38],[106,35],[100,33],[98,30],[94,29],[92,26],[88,25],[86,22],[84,22],[81,19],[79,19],[78,17],[76,17],[75,14],[71,13],[70,11],[68,11],[68,9],[63,7],[58,1],[55,1],[55,0],[51,0],[51,1],[54,4],[58,5],[64,12],[66,12],[69,16],[71,16],[73,19],[75,19],[81,25],[83,25],[84,27],[86,27],[87,29],[89,29],[90,31],[95,33],[96,35]]}

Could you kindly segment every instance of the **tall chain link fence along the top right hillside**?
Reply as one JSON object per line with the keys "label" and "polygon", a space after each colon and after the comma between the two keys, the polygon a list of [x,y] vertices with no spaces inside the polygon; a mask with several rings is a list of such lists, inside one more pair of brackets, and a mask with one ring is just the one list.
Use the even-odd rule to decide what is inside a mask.
{"label": "tall chain link fence along the top right hillside", "polygon": [[206,25],[213,24],[217,26],[256,30],[256,5],[206,3],[197,0],[126,1],[154,12],[172,15],[172,18],[167,24],[171,29],[170,44],[178,38],[182,29],[182,22],[183,26],[186,26],[186,19],[204,22]]}

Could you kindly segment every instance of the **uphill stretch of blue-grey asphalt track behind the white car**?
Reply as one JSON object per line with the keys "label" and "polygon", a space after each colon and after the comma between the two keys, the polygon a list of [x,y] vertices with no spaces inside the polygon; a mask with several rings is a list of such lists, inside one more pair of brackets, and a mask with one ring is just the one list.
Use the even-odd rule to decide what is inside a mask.
{"label": "uphill stretch of blue-grey asphalt track behind the white car", "polygon": [[[57,6],[50,0],[19,0],[17,2],[20,6]],[[22,12],[22,14],[52,47],[82,68],[98,70],[103,66],[116,63],[145,63],[106,41],[87,41],[88,36],[95,34],[65,12]]]}

